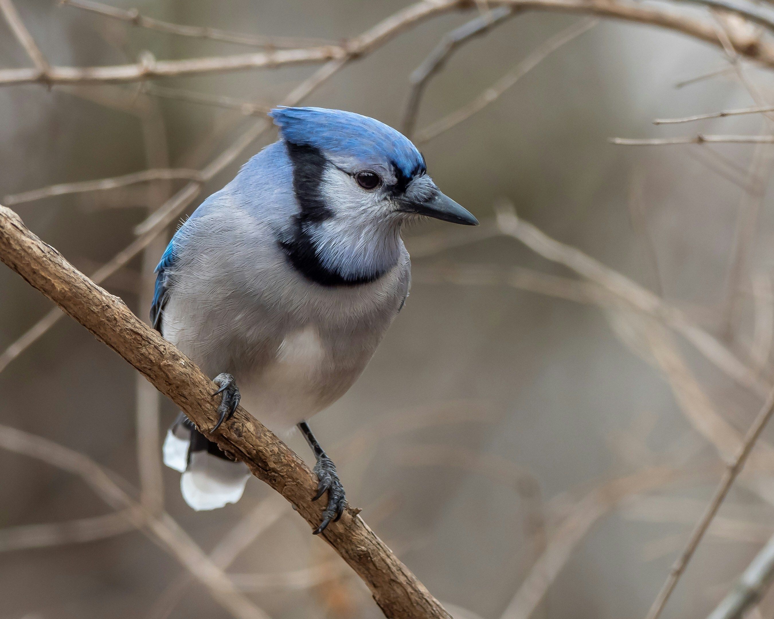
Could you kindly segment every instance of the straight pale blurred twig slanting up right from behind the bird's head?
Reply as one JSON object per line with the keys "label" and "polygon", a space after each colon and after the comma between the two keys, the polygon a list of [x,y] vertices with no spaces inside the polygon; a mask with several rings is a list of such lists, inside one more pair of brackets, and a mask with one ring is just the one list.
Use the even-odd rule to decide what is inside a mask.
{"label": "straight pale blurred twig slanting up right from behind the bird's head", "polygon": [[505,93],[505,91],[516,84],[516,82],[528,74],[529,71],[537,67],[539,63],[543,62],[543,60],[550,56],[551,53],[557,51],[563,45],[570,43],[570,41],[582,35],[587,30],[593,28],[598,22],[598,19],[582,19],[580,22],[574,23],[569,28],[562,30],[550,39],[547,39],[545,43],[536,47],[529,56],[517,64],[510,73],[505,74],[497,80],[495,84],[488,87],[469,104],[464,105],[457,111],[453,111],[451,114],[441,118],[439,121],[433,122],[432,125],[417,132],[416,142],[419,142],[420,144],[428,142],[441,133],[447,132],[450,128],[471,118],[471,116],[477,114],[488,106],[488,104],[496,101],[503,93]]}

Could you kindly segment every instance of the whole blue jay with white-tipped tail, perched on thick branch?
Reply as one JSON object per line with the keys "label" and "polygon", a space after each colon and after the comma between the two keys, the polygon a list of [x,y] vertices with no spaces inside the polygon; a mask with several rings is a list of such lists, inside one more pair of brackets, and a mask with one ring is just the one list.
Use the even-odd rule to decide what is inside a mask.
{"label": "whole blue jay with white-tipped tail, perched on thick branch", "polygon": [[[438,189],[416,146],[350,111],[279,107],[279,140],[252,156],[176,231],[156,268],[152,327],[218,386],[219,419],[239,402],[285,437],[309,443],[327,493],[315,534],[346,494],[308,420],[354,384],[406,303],[401,231],[432,217],[477,225]],[[250,477],[182,412],[163,443],[195,510],[235,503]]]}

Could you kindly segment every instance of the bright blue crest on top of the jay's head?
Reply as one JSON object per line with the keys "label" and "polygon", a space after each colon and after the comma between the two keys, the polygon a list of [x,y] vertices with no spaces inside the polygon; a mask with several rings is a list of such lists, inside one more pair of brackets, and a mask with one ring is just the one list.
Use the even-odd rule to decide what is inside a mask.
{"label": "bright blue crest on top of the jay's head", "polygon": [[425,172],[411,140],[368,116],[325,108],[275,108],[269,116],[287,142],[365,160],[386,159],[404,178]]}

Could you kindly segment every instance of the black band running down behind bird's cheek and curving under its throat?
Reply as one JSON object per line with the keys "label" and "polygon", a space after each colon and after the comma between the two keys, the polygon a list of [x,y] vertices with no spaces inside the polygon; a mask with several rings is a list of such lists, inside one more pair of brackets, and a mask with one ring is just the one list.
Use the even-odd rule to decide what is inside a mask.
{"label": "black band running down behind bird's cheek and curving under its throat", "polygon": [[299,214],[296,215],[293,238],[279,241],[279,247],[285,252],[290,264],[301,275],[320,286],[358,286],[381,277],[383,273],[378,272],[346,279],[341,273],[327,268],[320,262],[317,246],[308,228],[334,216],[320,194],[320,183],[323,180],[327,160],[320,149],[313,146],[288,142],[287,149],[290,161],[293,162],[293,192],[301,207]]}

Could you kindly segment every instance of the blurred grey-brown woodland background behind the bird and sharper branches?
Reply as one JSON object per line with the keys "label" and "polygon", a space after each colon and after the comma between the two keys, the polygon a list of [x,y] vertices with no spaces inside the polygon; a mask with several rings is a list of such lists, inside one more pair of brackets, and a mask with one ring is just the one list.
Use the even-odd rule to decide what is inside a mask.
{"label": "blurred grey-brown woodland background behind the bird and sharper branches", "polygon": [[[292,46],[355,36],[406,5],[111,0],[175,24],[301,39]],[[260,49],[134,27],[53,0],[15,6],[57,65]],[[413,26],[303,103],[402,128],[409,75],[478,10],[487,9]],[[534,12],[502,19],[430,80],[413,137],[433,179],[481,227],[428,223],[406,232],[406,307],[354,388],[312,422],[350,504],[457,619],[644,616],[721,476],[721,457],[735,453],[774,380],[766,193],[774,147],[610,142],[766,133],[771,121],[760,114],[652,120],[772,104],[770,71],[653,26],[583,20]],[[529,58],[540,62],[525,73]],[[2,20],[0,59],[2,67],[30,65]],[[188,181],[26,201],[19,193],[143,169],[190,177],[315,70],[142,87],[2,87],[0,202],[93,274]],[[519,79],[469,118],[437,125],[504,76]],[[275,139],[264,132],[180,217]],[[149,270],[173,230],[104,282],[143,319]],[[590,270],[586,256],[625,284],[596,263]],[[0,268],[0,351],[52,308]],[[357,576],[259,480],[238,504],[187,508],[179,474],[159,474],[155,451],[137,446],[138,433],[163,436],[173,405],[73,320],[17,352],[0,357],[2,617],[237,617],[180,559],[197,547],[214,553],[269,617],[381,616]],[[309,456],[300,437],[289,443]],[[60,466],[50,461],[56,454]],[[706,616],[774,534],[772,454],[768,443],[756,448],[665,617]],[[176,541],[160,542],[106,504],[84,480],[91,464],[83,457],[132,501],[142,486],[142,501],[169,515]],[[774,600],[753,612],[774,617]]]}

